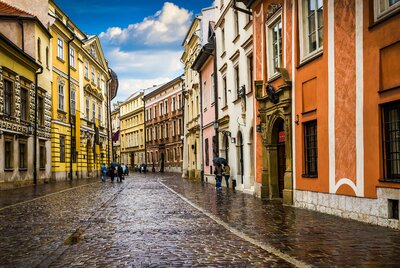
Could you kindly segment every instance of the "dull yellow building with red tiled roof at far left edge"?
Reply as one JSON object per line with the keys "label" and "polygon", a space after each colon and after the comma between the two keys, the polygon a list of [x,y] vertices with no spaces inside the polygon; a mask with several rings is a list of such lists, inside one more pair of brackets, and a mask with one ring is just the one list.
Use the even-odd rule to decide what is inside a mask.
{"label": "dull yellow building with red tiled roof at far left edge", "polygon": [[0,2],[0,188],[51,176],[51,35],[10,4]]}

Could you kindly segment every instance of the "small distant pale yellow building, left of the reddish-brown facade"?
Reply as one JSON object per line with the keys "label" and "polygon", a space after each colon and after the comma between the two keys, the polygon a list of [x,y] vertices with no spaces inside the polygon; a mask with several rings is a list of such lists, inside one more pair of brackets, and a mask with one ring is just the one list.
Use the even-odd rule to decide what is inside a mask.
{"label": "small distant pale yellow building, left of the reddish-brown facade", "polygon": [[120,104],[121,163],[129,168],[145,164],[143,90]]}

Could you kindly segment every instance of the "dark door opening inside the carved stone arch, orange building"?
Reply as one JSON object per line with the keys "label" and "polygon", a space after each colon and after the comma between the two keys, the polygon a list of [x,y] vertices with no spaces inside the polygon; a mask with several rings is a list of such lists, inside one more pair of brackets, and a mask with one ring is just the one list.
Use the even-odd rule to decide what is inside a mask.
{"label": "dark door opening inside the carved stone arch, orange building", "polygon": [[[276,148],[275,159],[272,159],[272,163],[275,163],[276,174],[272,177],[272,182],[276,185],[275,196],[283,198],[283,189],[285,188],[285,172],[286,172],[286,140],[285,140],[285,127],[282,118],[278,118],[275,121],[272,129],[271,142],[273,147]],[[274,178],[275,177],[275,178]]]}

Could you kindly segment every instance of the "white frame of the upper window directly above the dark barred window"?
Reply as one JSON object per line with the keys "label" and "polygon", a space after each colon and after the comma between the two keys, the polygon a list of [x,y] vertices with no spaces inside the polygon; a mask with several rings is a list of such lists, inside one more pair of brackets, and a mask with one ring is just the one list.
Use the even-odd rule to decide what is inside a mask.
{"label": "white frame of the upper window directly above the dark barred window", "polygon": [[[322,45],[318,46],[319,44],[319,36],[318,36],[318,9],[315,11],[315,33],[316,33],[316,41],[317,41],[317,48],[313,51],[309,49],[309,39],[308,39],[308,14],[306,14],[306,8],[308,1],[318,1],[318,0],[301,0],[298,2],[299,9],[298,9],[298,16],[299,16],[299,45],[300,45],[300,63],[304,63],[314,57],[319,56],[324,49],[323,46],[323,39],[324,39],[324,28],[325,28],[325,21],[324,21],[324,5],[322,4]],[[318,3],[317,3],[318,4]]]}

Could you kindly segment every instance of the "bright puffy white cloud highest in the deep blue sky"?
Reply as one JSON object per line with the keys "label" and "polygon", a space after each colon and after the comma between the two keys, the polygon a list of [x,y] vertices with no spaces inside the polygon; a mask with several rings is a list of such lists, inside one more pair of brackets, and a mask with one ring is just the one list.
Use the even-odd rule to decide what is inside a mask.
{"label": "bright puffy white cloud highest in the deep blue sky", "polygon": [[192,13],[177,5],[165,2],[161,10],[140,23],[127,28],[111,27],[100,34],[100,38],[112,45],[140,42],[145,45],[160,45],[181,41],[186,34]]}

